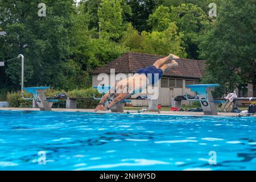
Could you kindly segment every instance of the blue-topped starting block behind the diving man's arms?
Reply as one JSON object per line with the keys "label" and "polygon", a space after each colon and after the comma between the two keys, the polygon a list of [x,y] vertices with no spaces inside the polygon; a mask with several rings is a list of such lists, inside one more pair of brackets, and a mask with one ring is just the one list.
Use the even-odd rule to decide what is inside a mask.
{"label": "blue-topped starting block behind the diving man's arms", "polygon": [[[93,86],[94,89],[97,89],[99,93],[106,94],[109,92],[111,86]],[[103,96],[102,96],[103,97]],[[102,98],[101,97],[101,98]],[[93,94],[94,100],[101,100],[101,98],[96,98],[95,94]],[[110,97],[108,101],[105,103],[105,106],[109,105],[114,100],[114,96]],[[120,104],[112,107],[111,111],[113,113],[123,113],[123,107],[126,102],[131,102],[130,100],[123,100]]]}

